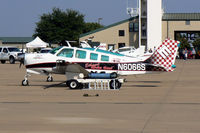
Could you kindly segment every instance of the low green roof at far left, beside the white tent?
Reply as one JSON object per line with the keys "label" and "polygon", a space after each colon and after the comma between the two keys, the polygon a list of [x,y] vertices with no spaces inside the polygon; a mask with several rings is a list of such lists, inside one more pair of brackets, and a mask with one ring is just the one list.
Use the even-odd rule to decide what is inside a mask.
{"label": "low green roof at far left, beside the white tent", "polygon": [[12,43],[27,43],[32,41],[33,37],[0,37],[0,41],[2,41],[3,44],[12,44]]}

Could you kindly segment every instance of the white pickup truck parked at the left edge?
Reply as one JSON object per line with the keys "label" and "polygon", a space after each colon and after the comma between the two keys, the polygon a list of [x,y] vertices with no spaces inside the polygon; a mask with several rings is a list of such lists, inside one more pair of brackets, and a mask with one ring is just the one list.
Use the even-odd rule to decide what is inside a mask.
{"label": "white pickup truck parked at the left edge", "polygon": [[23,55],[23,53],[16,47],[0,46],[0,61],[2,64],[6,63],[6,61],[14,64],[15,61],[21,60],[20,55]]}

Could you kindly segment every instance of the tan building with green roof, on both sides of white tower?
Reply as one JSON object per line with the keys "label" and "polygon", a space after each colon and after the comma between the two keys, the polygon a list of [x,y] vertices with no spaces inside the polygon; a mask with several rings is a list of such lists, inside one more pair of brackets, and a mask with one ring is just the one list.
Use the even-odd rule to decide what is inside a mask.
{"label": "tan building with green roof, on both sides of white tower", "polygon": [[[149,31],[151,33],[151,31]],[[200,13],[164,13],[162,16],[162,41],[166,38],[176,39],[181,34],[188,40],[200,36]],[[138,17],[105,26],[103,28],[81,34],[79,40],[92,38],[93,42],[106,43],[107,48],[117,49],[124,46],[138,47]],[[142,35],[145,39],[145,35]],[[142,44],[145,45],[145,44]]]}

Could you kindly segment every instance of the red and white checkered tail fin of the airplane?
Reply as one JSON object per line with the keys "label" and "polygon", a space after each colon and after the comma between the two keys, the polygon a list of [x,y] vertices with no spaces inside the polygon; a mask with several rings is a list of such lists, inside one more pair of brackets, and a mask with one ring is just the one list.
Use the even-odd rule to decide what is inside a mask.
{"label": "red and white checkered tail fin of the airplane", "polygon": [[[160,66],[163,67],[164,69],[156,69],[155,71],[173,71],[174,69],[172,68],[172,65],[175,63],[175,59],[176,59],[176,53],[178,50],[178,44],[180,42],[179,41],[175,41],[175,40],[170,40],[170,39],[166,39],[162,45],[160,45],[157,50],[154,52],[154,54],[151,56],[150,60],[151,63],[155,66]],[[168,50],[170,50],[170,53],[168,53],[169,55],[166,55],[165,57],[163,56],[162,52],[162,48],[165,47],[163,46],[165,45]],[[166,52],[166,51],[165,51]],[[162,55],[161,55],[161,54]]]}

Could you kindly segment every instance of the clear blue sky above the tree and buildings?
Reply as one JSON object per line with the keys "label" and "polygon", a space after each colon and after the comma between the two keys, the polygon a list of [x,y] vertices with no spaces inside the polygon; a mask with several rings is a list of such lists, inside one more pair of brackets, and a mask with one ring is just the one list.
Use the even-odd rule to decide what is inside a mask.
{"label": "clear blue sky above the tree and buildings", "polygon": [[[163,0],[163,3],[166,12],[200,12],[200,0]],[[127,0],[0,0],[0,36],[32,36],[40,16],[53,7],[78,10],[85,15],[86,22],[103,18],[103,25],[129,17]]]}

